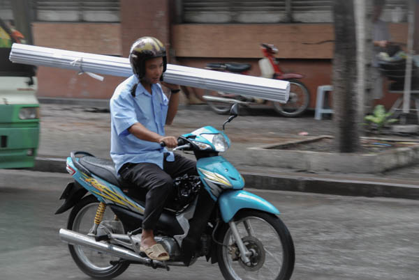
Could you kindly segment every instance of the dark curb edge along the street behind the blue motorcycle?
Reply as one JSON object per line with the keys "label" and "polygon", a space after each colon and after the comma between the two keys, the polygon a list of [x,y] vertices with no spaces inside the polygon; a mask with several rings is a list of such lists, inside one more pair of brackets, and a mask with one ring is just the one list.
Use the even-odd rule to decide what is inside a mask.
{"label": "dark curb edge along the street behind the blue motorcycle", "polygon": [[[36,157],[32,171],[66,173],[66,160],[53,157]],[[330,176],[302,176],[301,174],[265,174],[242,171],[247,185],[254,189],[311,192],[341,196],[382,196],[395,199],[419,200],[419,185],[411,181],[348,180]]]}

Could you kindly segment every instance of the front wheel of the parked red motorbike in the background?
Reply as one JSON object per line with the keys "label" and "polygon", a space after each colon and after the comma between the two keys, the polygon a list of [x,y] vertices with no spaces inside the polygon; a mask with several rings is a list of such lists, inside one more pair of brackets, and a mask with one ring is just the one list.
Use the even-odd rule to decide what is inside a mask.
{"label": "front wheel of the parked red motorbike in the background", "polygon": [[290,96],[286,104],[273,102],[278,114],[286,117],[300,116],[309,107],[310,93],[307,87],[296,79],[289,79]]}

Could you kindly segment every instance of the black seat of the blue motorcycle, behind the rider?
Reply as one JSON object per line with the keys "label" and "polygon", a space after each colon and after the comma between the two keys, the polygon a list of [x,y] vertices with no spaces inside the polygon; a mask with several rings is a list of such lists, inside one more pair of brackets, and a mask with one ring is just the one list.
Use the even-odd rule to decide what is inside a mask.
{"label": "black seat of the blue motorcycle, behind the rider", "polygon": [[120,188],[129,188],[131,185],[122,180],[121,177],[117,176],[117,171],[115,171],[115,164],[112,160],[105,160],[98,157],[80,157],[79,163],[84,166],[87,170],[99,178],[110,182],[112,185],[115,185]]}

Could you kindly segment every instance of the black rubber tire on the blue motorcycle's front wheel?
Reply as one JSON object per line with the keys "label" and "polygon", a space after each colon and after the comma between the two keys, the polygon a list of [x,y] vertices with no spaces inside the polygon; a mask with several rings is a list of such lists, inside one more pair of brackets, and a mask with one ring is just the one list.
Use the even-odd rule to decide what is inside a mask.
{"label": "black rubber tire on the blue motorcycle's front wheel", "polygon": [[[223,245],[221,244],[217,245],[218,263],[219,263],[221,273],[223,274],[223,277],[228,280],[246,279],[246,277],[249,277],[249,279],[275,279],[275,280],[290,279],[291,275],[293,274],[294,263],[295,263],[294,244],[293,244],[293,239],[291,238],[291,234],[288,231],[288,228],[286,228],[285,224],[281,221],[281,219],[279,219],[279,217],[275,215],[270,215],[266,212],[260,212],[257,210],[241,210],[239,213],[235,215],[234,220],[235,220],[235,223],[237,224],[237,229],[239,229],[239,232],[242,231],[240,233],[240,236],[242,240],[244,241],[245,246],[247,246],[249,249],[251,248],[250,243],[253,242],[252,248],[257,247],[257,246],[254,246],[255,244],[259,244],[257,248],[261,247],[263,250],[260,250],[259,254],[256,254],[258,256],[256,257],[256,260],[254,260],[255,263],[253,263],[253,260],[252,260],[252,265],[254,265],[253,267],[248,267],[247,265],[244,265],[244,263],[242,263],[242,260],[240,260],[240,257],[238,257],[238,259],[236,260],[233,260],[233,255],[235,255],[235,258],[237,258],[237,254],[240,254],[240,251],[238,251],[238,249],[234,249],[235,242],[233,243],[229,242],[231,230],[228,224],[224,224],[223,227],[220,229],[220,233],[218,235],[219,236],[218,241],[222,242]],[[256,226],[253,226],[253,235],[254,235],[253,237],[250,237],[250,235],[243,236],[247,232],[247,231],[244,231],[244,226],[243,226],[243,229],[240,228],[240,224],[244,224],[244,220],[247,220],[248,222],[251,221],[251,223],[249,224],[253,223],[254,225],[256,225]],[[267,226],[267,228],[272,228],[272,233],[277,234],[277,239],[275,238],[272,239],[272,236],[270,235],[270,233],[265,231],[265,226],[258,227],[258,223],[262,223],[262,222],[265,222],[265,224],[269,225]],[[254,228],[257,228],[257,230],[260,231],[260,234],[257,234],[257,235],[254,234],[255,233]],[[266,235],[266,236],[263,236],[263,235]],[[263,239],[266,239],[267,242],[263,242],[262,241]],[[278,242],[275,242],[277,240]],[[263,276],[262,274],[264,274],[265,271],[267,272],[266,266],[272,263],[272,260],[271,260],[272,253],[268,250],[268,248],[270,249],[272,246],[279,245],[279,244],[271,244],[271,243],[281,243],[282,261],[280,265],[277,265],[276,264],[277,259],[274,258],[274,256],[272,256],[272,260],[274,260],[272,267],[277,267],[276,270],[279,270],[279,271],[276,273],[276,276],[270,278],[267,276]],[[230,244],[233,246],[228,247],[228,246],[225,246],[226,244]],[[256,252],[258,251],[259,250],[256,249]],[[277,253],[279,251],[273,251],[273,252]],[[270,259],[267,259],[268,257]],[[233,268],[233,265],[237,267],[237,271]],[[238,275],[237,272],[240,272],[240,274],[242,275]],[[253,272],[257,274],[252,275]]]}

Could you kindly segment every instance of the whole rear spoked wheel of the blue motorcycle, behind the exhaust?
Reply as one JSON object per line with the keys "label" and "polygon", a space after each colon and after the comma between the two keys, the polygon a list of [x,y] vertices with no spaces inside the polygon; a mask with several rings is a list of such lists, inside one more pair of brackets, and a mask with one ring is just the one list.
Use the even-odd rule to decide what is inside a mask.
{"label": "whole rear spoked wheel of the blue motorcycle, behind the exhaust", "polygon": [[[99,202],[94,196],[86,196],[82,199],[70,213],[67,228],[71,231],[87,234],[94,225],[94,217],[98,210]],[[115,219],[110,208],[105,209],[103,219],[99,228],[105,226],[112,233],[125,233],[122,222]],[[97,279],[111,279],[124,272],[129,264],[118,263],[111,265],[110,261],[119,260],[119,258],[103,254],[80,245],[68,245],[73,260],[80,270],[90,277]]]}

